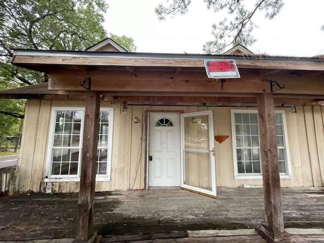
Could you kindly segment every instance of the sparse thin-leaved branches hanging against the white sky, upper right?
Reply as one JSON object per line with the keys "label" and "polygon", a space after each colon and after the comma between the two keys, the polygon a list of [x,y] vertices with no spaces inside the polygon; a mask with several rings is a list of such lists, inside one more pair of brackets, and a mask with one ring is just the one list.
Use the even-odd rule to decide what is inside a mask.
{"label": "sparse thin-leaved branches hanging against the white sky, upper right", "polygon": [[[212,25],[214,41],[207,42],[203,49],[209,54],[223,53],[225,48],[242,44],[250,46],[256,42],[252,32],[256,24],[252,22],[257,12],[262,12],[265,18],[274,18],[284,6],[283,0],[255,0],[252,7],[246,7],[245,0],[204,0],[208,9],[214,12],[227,11],[231,19],[224,18],[218,24]],[[155,9],[160,20],[168,15],[184,15],[188,11],[191,0],[173,0],[168,6],[158,5]]]}

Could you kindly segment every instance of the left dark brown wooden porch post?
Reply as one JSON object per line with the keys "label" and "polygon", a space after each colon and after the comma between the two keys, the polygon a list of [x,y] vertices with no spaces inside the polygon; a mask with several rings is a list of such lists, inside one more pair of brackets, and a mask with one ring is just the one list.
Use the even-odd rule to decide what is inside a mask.
{"label": "left dark brown wooden porch post", "polygon": [[87,242],[91,235],[95,233],[93,230],[93,215],[99,111],[100,94],[95,91],[87,91],[75,242]]}

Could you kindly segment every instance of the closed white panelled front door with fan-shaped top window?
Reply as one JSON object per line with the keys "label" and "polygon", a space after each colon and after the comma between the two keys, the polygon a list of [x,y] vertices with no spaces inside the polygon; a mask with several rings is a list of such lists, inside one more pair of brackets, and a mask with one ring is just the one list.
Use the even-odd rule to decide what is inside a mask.
{"label": "closed white panelled front door with fan-shaped top window", "polygon": [[148,186],[180,186],[180,115],[150,114]]}

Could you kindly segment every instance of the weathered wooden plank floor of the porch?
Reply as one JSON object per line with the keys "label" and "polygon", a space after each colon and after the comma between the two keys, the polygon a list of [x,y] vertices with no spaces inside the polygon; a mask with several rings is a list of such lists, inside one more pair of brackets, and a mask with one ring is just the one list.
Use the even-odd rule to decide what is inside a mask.
{"label": "weathered wooden plank floor of the porch", "polygon": [[[323,188],[284,188],[282,202],[285,227],[324,227]],[[0,240],[74,237],[76,209],[77,194],[0,198]],[[261,188],[218,188],[216,199],[175,188],[102,192],[95,199],[102,235],[184,237],[186,230],[252,228],[263,219]]]}

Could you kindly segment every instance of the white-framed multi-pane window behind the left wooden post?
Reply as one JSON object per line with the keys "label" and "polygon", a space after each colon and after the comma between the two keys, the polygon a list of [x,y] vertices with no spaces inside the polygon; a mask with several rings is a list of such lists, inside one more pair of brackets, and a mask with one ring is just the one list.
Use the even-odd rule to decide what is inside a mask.
{"label": "white-framed multi-pane window behind the left wooden post", "polygon": [[[84,108],[52,110],[46,181],[79,180],[84,126]],[[113,108],[100,110],[97,180],[110,180]],[[74,178],[74,179],[73,179]]]}

